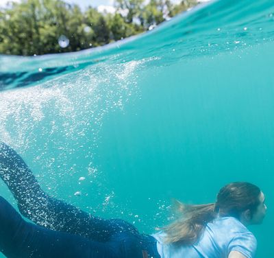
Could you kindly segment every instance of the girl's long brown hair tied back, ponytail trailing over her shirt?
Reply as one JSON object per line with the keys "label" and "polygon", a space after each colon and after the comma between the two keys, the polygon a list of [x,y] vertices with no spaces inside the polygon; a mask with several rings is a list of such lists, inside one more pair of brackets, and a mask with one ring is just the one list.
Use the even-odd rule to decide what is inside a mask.
{"label": "girl's long brown hair tied back, ponytail trailing over her shirt", "polygon": [[243,211],[250,210],[251,216],[260,204],[260,188],[247,182],[230,183],[222,187],[216,202],[200,205],[183,204],[175,200],[177,220],[164,226],[165,244],[194,244],[197,242],[208,222],[217,215],[240,219]]}

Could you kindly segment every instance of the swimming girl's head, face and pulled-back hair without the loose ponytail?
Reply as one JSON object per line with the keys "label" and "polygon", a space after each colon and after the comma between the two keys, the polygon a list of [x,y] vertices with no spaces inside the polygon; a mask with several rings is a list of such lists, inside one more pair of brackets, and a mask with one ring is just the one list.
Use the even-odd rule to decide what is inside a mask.
{"label": "swimming girl's head, face and pulled-back hair without the loose ponytail", "polygon": [[243,224],[259,224],[266,212],[264,193],[251,183],[230,183],[217,194],[215,211],[222,217],[235,217]]}

